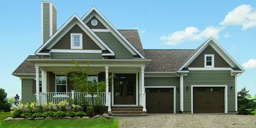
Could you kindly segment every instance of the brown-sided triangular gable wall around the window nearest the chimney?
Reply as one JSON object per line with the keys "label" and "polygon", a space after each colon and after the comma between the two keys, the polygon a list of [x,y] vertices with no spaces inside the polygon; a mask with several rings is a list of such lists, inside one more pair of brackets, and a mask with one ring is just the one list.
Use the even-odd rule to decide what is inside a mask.
{"label": "brown-sided triangular gable wall around the window nearest the chimney", "polygon": [[70,29],[52,49],[71,49],[71,33],[82,33],[82,50],[101,50],[100,47],[90,38],[78,25]]}

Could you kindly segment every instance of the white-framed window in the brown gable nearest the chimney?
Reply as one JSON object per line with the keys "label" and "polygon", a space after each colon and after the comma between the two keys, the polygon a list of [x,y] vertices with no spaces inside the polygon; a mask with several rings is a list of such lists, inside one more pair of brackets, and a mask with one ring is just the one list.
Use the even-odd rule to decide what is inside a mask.
{"label": "white-framed window in the brown gable nearest the chimney", "polygon": [[71,49],[82,49],[82,33],[71,33]]}

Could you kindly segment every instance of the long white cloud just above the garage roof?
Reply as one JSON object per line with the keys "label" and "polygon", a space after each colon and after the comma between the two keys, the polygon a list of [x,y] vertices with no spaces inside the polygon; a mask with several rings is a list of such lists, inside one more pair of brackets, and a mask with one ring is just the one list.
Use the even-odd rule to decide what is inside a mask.
{"label": "long white cloud just above the garage roof", "polygon": [[176,31],[167,36],[163,35],[160,37],[160,40],[164,40],[164,45],[179,45],[183,41],[198,41],[211,36],[218,39],[219,32],[222,29],[223,28],[209,26],[201,31],[196,27],[187,27],[184,31]]}

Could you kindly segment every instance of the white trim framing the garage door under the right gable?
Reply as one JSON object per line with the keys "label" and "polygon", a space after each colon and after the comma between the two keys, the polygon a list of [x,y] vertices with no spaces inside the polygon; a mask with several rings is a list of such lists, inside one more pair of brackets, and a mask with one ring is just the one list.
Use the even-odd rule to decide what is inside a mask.
{"label": "white trim framing the garage door under the right gable", "polygon": [[224,87],[224,105],[225,113],[227,113],[227,86],[212,86],[212,85],[202,85],[202,86],[191,86],[191,113],[193,113],[193,88],[194,87]]}

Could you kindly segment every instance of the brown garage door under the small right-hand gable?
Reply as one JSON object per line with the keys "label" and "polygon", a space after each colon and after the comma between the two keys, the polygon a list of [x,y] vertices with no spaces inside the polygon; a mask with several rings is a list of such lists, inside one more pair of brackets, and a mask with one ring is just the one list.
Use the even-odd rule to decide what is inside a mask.
{"label": "brown garage door under the small right-hand gable", "polygon": [[224,88],[194,88],[193,109],[194,113],[224,113]]}

